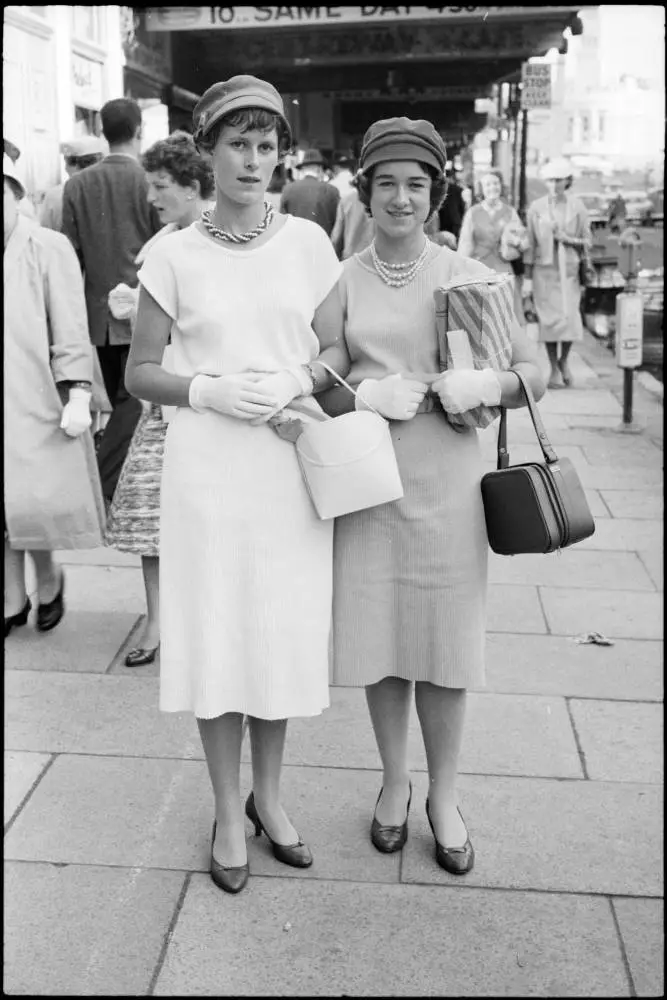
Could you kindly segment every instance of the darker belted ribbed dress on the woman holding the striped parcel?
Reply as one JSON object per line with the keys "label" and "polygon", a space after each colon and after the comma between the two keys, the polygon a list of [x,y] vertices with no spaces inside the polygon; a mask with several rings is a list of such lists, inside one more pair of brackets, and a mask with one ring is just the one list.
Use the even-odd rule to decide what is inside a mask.
{"label": "darker belted ribbed dress on the woman holding the striped parcel", "polygon": [[[403,288],[368,251],[344,264],[348,381],[440,370],[433,292],[454,275],[488,274],[446,247]],[[339,390],[345,391],[345,390]],[[487,537],[477,432],[442,409],[391,421],[405,490],[394,503],[338,518],[334,541],[334,683],[384,677],[468,688],[484,682]]]}

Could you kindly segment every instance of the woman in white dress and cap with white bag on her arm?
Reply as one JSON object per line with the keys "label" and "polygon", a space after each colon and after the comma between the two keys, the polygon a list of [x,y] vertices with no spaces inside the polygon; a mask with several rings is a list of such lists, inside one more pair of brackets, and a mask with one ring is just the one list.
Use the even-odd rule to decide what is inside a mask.
{"label": "woman in white dress and cap with white bag on her arm", "polygon": [[[278,92],[251,76],[214,84],[194,132],[211,156],[215,208],[148,253],[127,384],[178,407],[162,478],[160,707],[197,717],[215,798],[211,876],[238,892],[248,877],[244,715],[246,815],[278,860],[312,863],[279,782],[287,718],[329,704],[333,532],[293,445],[268,421],[332,384],[318,356],[345,374],[347,355],[329,239],[265,203],[291,142]],[[160,365],[169,337],[176,374]],[[299,400],[309,406],[319,410]]]}

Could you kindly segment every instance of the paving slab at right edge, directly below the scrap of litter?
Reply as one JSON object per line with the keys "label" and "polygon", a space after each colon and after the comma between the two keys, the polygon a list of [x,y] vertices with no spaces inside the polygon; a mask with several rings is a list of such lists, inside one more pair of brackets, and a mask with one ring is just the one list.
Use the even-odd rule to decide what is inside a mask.
{"label": "paving slab at right edge, directly below the scrap of litter", "polygon": [[482,690],[662,701],[663,645],[616,639],[613,646],[597,646],[561,635],[489,633]]}

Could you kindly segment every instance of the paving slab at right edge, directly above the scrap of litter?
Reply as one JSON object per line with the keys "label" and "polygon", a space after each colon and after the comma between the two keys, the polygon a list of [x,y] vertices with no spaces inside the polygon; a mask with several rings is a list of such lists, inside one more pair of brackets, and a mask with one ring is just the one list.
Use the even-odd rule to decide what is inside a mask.
{"label": "paving slab at right edge, directly above the scrap of litter", "polygon": [[601,632],[610,639],[662,639],[662,594],[637,590],[576,590],[540,587],[540,598],[556,635]]}

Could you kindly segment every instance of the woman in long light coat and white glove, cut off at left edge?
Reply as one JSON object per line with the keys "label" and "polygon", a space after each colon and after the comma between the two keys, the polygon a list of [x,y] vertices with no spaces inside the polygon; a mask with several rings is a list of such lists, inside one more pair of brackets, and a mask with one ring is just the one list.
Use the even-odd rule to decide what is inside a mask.
{"label": "woman in long light coat and white glove, cut off at left edge", "polygon": [[66,236],[19,213],[23,186],[7,156],[3,174],[7,636],[32,607],[26,551],[37,576],[37,628],[46,632],[64,613],[53,551],[101,545],[104,504],[89,431],[93,348],[79,263]]}

